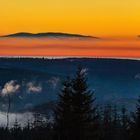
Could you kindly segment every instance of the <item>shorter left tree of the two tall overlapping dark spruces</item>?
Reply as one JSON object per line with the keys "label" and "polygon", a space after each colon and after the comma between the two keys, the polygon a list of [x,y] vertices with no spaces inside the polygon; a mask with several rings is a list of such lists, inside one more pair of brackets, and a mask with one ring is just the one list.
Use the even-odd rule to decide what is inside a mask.
{"label": "shorter left tree of the two tall overlapping dark spruces", "polygon": [[55,110],[56,139],[69,140],[72,136],[71,80],[63,82],[59,102]]}

